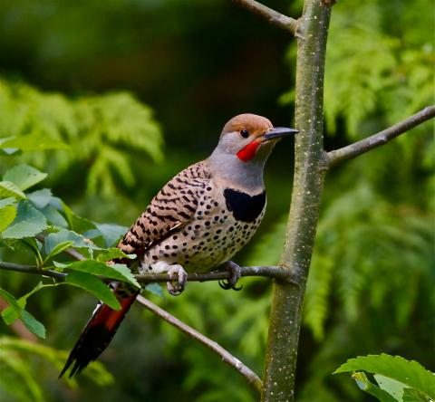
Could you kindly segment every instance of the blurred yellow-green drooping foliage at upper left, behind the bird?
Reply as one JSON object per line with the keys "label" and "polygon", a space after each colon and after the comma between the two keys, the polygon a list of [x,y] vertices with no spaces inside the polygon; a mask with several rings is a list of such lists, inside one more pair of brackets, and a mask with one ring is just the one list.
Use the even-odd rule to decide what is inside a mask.
{"label": "blurred yellow-green drooping foliage at upper left, behind the bird", "polygon": [[136,183],[131,154],[162,158],[160,127],[150,108],[130,93],[68,99],[5,79],[0,79],[0,143],[3,155],[11,156],[56,149],[19,159],[48,167],[55,182],[64,179],[68,168],[86,168],[87,192],[103,196],[116,193],[118,177],[127,187]]}

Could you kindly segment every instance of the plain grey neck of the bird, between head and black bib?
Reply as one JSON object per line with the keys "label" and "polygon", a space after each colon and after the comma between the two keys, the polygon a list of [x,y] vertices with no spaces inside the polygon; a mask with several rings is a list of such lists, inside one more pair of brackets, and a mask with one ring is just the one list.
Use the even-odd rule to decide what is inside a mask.
{"label": "plain grey neck of the bird, between head and black bib", "polygon": [[218,179],[248,194],[259,194],[264,188],[263,170],[266,160],[244,162],[236,155],[224,154],[217,149],[206,159],[210,171]]}

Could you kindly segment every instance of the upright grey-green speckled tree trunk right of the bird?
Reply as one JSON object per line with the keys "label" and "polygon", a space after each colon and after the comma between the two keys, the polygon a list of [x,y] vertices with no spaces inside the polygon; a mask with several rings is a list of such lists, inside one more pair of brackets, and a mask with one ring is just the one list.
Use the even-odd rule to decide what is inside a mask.
{"label": "upright grey-green speckled tree trunk right of the bird", "polygon": [[314,248],[324,174],[324,56],[331,14],[326,0],[305,0],[297,29],[295,178],[281,266],[295,282],[275,282],[263,401],[293,401],[305,283]]}

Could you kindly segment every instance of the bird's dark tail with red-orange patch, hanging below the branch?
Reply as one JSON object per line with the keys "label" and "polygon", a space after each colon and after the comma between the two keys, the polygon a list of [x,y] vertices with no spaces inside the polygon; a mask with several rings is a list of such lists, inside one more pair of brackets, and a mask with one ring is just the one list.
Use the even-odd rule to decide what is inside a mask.
{"label": "bird's dark tail with red-orange patch, hanging below the branch", "polygon": [[59,378],[72,366],[69,378],[79,374],[91,361],[97,359],[104,349],[107,348],[113,335],[121,324],[131,304],[138,297],[139,291],[125,289],[119,290],[115,284],[113,292],[121,304],[121,310],[111,309],[107,304],[98,304],[92,313],[91,320],[88,321],[79,340],[77,340],[70,356],[66,360]]}

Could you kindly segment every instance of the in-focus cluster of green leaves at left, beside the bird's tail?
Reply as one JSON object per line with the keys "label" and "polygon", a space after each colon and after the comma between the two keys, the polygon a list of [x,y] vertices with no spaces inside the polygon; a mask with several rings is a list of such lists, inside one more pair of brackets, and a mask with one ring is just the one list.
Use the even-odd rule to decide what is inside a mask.
{"label": "in-focus cluster of green leaves at left, beside the bird's tail", "polygon": [[[140,288],[131,271],[122,264],[112,263],[114,258],[134,258],[118,248],[110,248],[126,231],[118,225],[100,225],[86,220],[52,195],[47,188],[24,193],[46,177],[45,173],[27,165],[18,165],[5,172],[0,182],[0,244],[17,250],[25,247],[34,254],[37,269],[52,269],[68,273],[62,282],[39,282],[36,287],[20,299],[0,289],[1,296],[10,307],[2,311],[6,324],[21,319],[28,330],[45,338],[43,324],[25,310],[27,298],[43,288],[69,284],[91,292],[113,309],[121,305],[113,296],[106,283],[99,277],[131,283]],[[79,235],[79,233],[83,235]],[[100,243],[101,246],[95,242]],[[59,263],[55,258],[68,250],[86,255],[88,260]]]}

